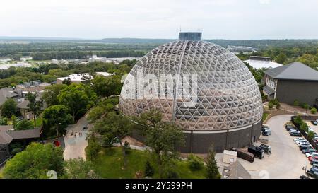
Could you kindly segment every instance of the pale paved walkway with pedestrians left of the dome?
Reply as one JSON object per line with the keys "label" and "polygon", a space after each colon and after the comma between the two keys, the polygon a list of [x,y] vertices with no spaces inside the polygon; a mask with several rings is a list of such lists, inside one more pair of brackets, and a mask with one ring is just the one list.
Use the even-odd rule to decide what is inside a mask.
{"label": "pale paved walkway with pedestrians left of the dome", "polygon": [[[64,137],[65,149],[63,153],[65,160],[74,158],[86,159],[85,148],[88,145],[88,142],[86,141],[87,131],[83,131],[83,127],[86,126],[90,129],[90,125],[88,125],[87,121],[87,114],[81,117],[76,124],[69,125],[69,127],[66,128],[66,136]],[[71,135],[72,131],[74,134],[76,133],[76,136]],[[78,136],[78,132],[81,132],[83,135]]]}

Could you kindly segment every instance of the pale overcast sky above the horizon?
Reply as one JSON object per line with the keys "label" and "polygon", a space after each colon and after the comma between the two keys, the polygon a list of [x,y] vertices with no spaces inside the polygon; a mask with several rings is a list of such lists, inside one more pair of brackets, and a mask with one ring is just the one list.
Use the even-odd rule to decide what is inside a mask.
{"label": "pale overcast sky above the horizon", "polygon": [[318,0],[10,0],[0,36],[318,39]]}

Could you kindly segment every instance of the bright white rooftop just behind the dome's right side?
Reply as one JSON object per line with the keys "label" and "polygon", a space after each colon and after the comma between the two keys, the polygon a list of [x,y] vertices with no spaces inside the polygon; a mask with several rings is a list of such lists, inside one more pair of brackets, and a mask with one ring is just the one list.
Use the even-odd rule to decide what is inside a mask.
{"label": "bright white rooftop just behind the dome's right side", "polygon": [[248,63],[254,69],[273,69],[283,66],[282,64],[272,62],[269,57],[249,57],[249,59],[244,62]]}

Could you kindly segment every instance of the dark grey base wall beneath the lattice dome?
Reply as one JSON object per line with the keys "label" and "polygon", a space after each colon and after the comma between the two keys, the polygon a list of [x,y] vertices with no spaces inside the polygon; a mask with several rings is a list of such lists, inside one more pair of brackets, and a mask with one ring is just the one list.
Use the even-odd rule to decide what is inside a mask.
{"label": "dark grey base wall beneath the lattice dome", "polygon": [[[217,153],[228,148],[243,148],[249,146],[261,136],[261,124],[259,121],[243,129],[229,129],[221,131],[184,131],[185,146],[177,147],[182,153],[208,153],[213,144]],[[227,132],[228,131],[228,132]],[[134,139],[145,141],[141,131],[134,130],[131,134]]]}

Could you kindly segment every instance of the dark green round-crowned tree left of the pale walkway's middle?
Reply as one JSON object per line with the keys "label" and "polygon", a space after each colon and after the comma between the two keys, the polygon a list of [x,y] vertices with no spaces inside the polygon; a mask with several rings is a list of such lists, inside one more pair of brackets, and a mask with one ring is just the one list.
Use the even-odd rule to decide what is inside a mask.
{"label": "dark green round-crowned tree left of the pale walkway's middle", "polygon": [[69,110],[64,105],[53,105],[47,107],[42,113],[43,122],[46,127],[55,127],[57,131],[57,137],[59,131],[62,131],[68,124],[72,123],[72,117],[68,112]]}

